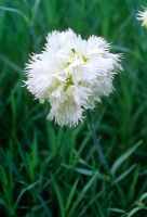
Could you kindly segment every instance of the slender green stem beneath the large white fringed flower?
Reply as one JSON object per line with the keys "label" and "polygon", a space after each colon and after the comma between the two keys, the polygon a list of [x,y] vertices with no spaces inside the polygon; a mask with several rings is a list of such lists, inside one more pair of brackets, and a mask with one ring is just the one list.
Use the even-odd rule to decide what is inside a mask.
{"label": "slender green stem beneath the large white fringed flower", "polygon": [[106,157],[104,155],[102,144],[101,144],[101,142],[99,142],[97,136],[96,136],[96,130],[95,130],[94,118],[93,118],[92,112],[89,112],[88,116],[89,116],[89,128],[91,130],[91,135],[92,135],[92,138],[93,138],[94,145],[96,145],[96,148],[97,148],[99,161],[101,161],[105,171],[108,173],[109,171],[108,163],[107,163]]}

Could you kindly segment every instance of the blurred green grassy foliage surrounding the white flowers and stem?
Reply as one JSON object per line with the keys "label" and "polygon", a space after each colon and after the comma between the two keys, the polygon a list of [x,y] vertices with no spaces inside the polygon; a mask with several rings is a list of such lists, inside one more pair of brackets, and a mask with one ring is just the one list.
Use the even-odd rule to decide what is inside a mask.
{"label": "blurred green grassy foliage surrounding the white flowers and stem", "polygon": [[[147,217],[147,30],[142,0],[0,0],[0,217]],[[76,128],[46,120],[23,88],[54,29],[105,37],[123,53],[116,91]]]}

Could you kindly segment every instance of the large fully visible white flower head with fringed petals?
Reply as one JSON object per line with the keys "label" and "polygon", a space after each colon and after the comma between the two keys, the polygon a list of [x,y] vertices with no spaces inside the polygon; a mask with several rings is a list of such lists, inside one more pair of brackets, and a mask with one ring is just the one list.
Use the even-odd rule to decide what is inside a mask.
{"label": "large fully visible white flower head with fringed petals", "polygon": [[112,92],[113,75],[121,69],[119,58],[103,38],[84,40],[71,29],[53,31],[44,50],[26,65],[25,84],[36,99],[50,103],[50,119],[76,126],[83,111]]}

